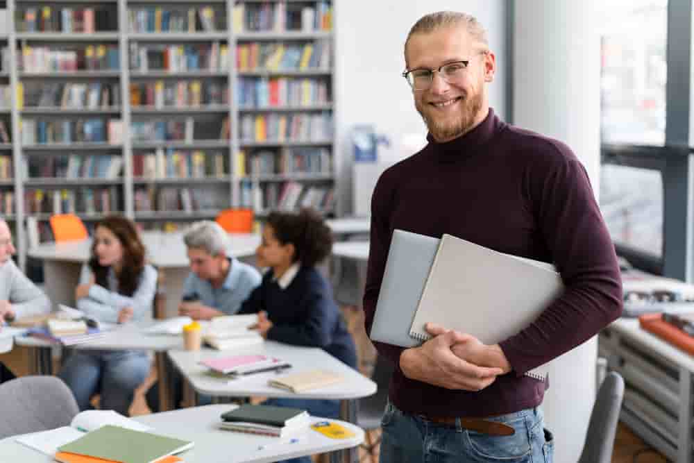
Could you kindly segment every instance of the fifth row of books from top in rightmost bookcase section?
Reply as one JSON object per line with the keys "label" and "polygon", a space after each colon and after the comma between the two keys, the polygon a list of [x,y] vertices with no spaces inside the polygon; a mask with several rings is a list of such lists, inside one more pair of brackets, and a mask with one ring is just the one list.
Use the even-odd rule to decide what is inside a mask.
{"label": "fifth row of books from top in rightmost bookcase section", "polygon": [[[245,158],[244,153],[240,155]],[[280,153],[258,151],[251,155],[248,167],[251,175],[330,174],[332,158],[326,148],[287,148]]]}

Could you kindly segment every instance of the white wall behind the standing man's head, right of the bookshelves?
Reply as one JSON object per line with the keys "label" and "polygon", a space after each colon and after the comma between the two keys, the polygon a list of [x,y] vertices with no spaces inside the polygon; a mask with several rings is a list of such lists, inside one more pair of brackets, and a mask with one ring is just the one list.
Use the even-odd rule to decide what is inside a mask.
{"label": "white wall behind the standing man's head, right of the bookshelves", "polygon": [[[336,71],[337,133],[341,146],[337,197],[351,212],[352,151],[347,138],[351,127],[373,124],[388,134],[426,134],[414,108],[412,92],[400,76],[405,69],[403,46],[409,28],[423,15],[439,10],[470,13],[489,32],[489,45],[499,69],[491,85],[490,103],[505,119],[505,1],[503,0],[337,0]],[[403,157],[413,153],[403,153]]]}

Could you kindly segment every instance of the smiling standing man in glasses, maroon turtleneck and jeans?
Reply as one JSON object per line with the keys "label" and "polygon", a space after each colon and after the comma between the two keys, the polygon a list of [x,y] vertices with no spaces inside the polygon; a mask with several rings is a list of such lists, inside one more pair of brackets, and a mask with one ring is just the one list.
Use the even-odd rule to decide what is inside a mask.
{"label": "smiling standing man in glasses, maroon turtleneck and jeans", "polygon": [[[419,347],[375,343],[396,366],[382,463],[551,462],[554,442],[540,407],[547,382],[525,373],[621,313],[616,255],[584,167],[565,144],[494,114],[495,71],[486,32],[470,15],[432,13],[409,31],[403,76],[428,144],[384,171],[373,192],[366,330],[396,228],[552,262],[565,291],[499,344],[431,323],[434,337]],[[472,310],[461,301],[462,319]]]}

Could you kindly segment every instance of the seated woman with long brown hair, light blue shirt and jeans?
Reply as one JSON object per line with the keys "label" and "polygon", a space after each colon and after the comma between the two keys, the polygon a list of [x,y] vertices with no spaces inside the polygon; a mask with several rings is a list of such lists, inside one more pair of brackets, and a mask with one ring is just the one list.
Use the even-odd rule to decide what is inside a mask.
{"label": "seated woman with long brown hair, light blue shirt and jeans", "polygon": [[[151,318],[157,271],[145,264],[144,244],[135,224],[119,216],[96,226],[92,258],[75,289],[77,308],[110,323]],[[128,415],[133,393],[149,373],[144,351],[74,351],[58,376],[72,390],[80,410],[101,394],[100,407]]]}

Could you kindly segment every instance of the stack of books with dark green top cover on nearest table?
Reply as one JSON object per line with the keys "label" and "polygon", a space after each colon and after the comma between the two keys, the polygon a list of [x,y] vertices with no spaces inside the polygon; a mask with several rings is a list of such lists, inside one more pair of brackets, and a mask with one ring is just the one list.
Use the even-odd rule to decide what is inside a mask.
{"label": "stack of books with dark green top cover on nearest table", "polygon": [[271,405],[242,405],[221,415],[222,429],[279,437],[281,440],[302,435],[309,429],[306,410]]}

